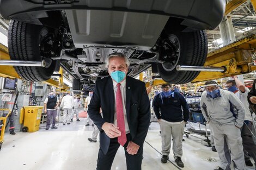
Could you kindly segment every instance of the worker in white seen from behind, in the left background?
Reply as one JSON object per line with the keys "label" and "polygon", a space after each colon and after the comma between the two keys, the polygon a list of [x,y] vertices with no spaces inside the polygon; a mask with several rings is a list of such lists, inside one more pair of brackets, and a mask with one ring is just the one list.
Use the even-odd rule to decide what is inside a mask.
{"label": "worker in white seen from behind, in the left background", "polygon": [[63,108],[63,125],[70,124],[72,109],[74,109],[74,99],[68,93],[62,98],[62,103],[60,103],[60,108]]}

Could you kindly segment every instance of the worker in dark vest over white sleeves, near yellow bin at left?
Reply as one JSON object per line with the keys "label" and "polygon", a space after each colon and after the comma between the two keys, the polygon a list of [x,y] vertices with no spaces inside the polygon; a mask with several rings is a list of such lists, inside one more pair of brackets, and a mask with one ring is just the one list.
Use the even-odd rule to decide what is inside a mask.
{"label": "worker in dark vest over white sleeves, near yellow bin at left", "polygon": [[45,113],[47,113],[45,130],[48,130],[50,128],[51,119],[52,119],[52,129],[57,129],[57,127],[55,127],[55,121],[56,121],[56,115],[57,115],[57,108],[59,106],[59,99],[57,96],[54,95],[53,91],[51,91],[49,93],[49,96],[45,98],[44,106],[45,106]]}

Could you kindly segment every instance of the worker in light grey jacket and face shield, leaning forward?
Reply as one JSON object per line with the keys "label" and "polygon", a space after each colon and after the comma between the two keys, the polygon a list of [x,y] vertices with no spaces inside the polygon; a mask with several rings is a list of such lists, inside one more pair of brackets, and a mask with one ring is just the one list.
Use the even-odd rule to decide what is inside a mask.
{"label": "worker in light grey jacket and face shield, leaning forward", "polygon": [[236,170],[245,169],[240,128],[245,108],[234,93],[218,88],[216,81],[206,81],[200,106],[212,129],[215,147],[221,160],[218,170],[230,169],[231,155]]}

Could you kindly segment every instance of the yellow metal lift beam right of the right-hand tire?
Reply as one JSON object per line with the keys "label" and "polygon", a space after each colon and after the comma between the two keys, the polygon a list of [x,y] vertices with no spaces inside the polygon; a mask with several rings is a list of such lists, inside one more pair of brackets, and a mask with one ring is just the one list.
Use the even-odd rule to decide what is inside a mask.
{"label": "yellow metal lift beam right of the right-hand tire", "polygon": [[245,74],[256,70],[256,66],[249,65],[252,62],[251,53],[255,51],[256,34],[253,34],[208,53],[204,66],[225,66],[227,70],[224,73],[200,72],[192,83]]}

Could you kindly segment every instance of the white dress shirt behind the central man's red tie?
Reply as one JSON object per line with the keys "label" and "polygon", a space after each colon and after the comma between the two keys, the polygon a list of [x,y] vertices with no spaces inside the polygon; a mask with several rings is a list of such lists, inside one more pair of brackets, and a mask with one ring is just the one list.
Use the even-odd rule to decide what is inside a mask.
{"label": "white dress shirt behind the central man's red tie", "polygon": [[[127,122],[127,115],[126,115],[126,108],[125,108],[125,102],[126,102],[126,92],[125,92],[125,84],[126,80],[122,81],[120,83],[120,91],[122,95],[122,102],[123,102],[123,111],[124,111],[124,123],[125,123],[125,132],[126,134],[130,133],[130,129]],[[117,95],[117,82],[113,80],[113,87],[114,87],[114,97]],[[115,102],[114,102],[115,103]],[[114,125],[118,127],[117,125],[117,104],[114,106],[115,108],[115,115],[114,115]]]}

